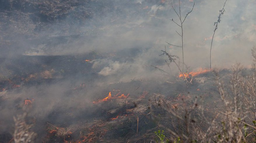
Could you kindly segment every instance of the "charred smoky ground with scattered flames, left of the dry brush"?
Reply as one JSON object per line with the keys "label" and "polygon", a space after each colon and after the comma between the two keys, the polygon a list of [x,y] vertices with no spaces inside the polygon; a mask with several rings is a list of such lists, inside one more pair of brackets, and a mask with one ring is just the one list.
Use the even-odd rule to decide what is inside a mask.
{"label": "charred smoky ground with scattered flames, left of the dry brush", "polygon": [[[7,75],[1,77],[0,84],[1,114],[5,115],[1,117],[1,142],[13,138],[12,118],[23,112],[28,113],[28,124],[34,124],[36,142],[149,142],[154,141],[154,131],[159,128],[159,121],[149,113],[153,114],[156,108],[158,116],[164,115],[152,107],[154,100],[163,98],[173,108],[179,108],[192,106],[199,99],[197,104],[204,107],[209,118],[216,108],[222,108],[213,73],[193,77],[192,84],[178,77],[97,84],[107,77],[99,75],[92,68],[93,63],[85,59],[100,57],[104,54],[91,52],[79,56],[2,58],[5,68],[1,70]],[[219,74],[228,79],[230,71]],[[109,92],[112,97],[129,96],[97,102]],[[25,105],[25,100],[31,103]]]}

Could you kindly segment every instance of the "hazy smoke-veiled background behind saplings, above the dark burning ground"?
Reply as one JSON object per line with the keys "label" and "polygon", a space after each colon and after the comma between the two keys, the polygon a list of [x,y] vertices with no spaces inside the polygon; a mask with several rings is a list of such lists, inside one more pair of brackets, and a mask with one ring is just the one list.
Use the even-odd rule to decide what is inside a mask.
{"label": "hazy smoke-veiled background behind saplings, above the dark burning ground", "polygon": [[[154,59],[165,45],[169,47],[166,41],[181,44],[175,32],[180,32],[180,28],[169,20],[177,21],[177,15],[167,0],[53,1],[38,6],[41,11],[34,8],[37,1],[29,6],[30,1],[18,3],[25,8],[20,8],[22,5],[15,5],[15,2],[18,3],[8,3],[10,8],[1,6],[1,39],[10,42],[1,46],[2,56],[75,55],[91,50],[111,53],[128,48],[147,48],[149,50],[144,52],[150,52]],[[177,1],[173,3],[177,9]],[[65,9],[58,7],[61,4],[65,4]],[[224,0],[196,1],[193,12],[184,22],[187,65],[209,67],[213,24],[223,4]],[[181,6],[184,17],[193,6],[193,0],[182,0]],[[253,0],[227,1],[213,41],[213,67],[229,67],[236,62],[250,65],[250,50],[256,38],[255,6]],[[181,57],[180,48],[167,50]]]}

